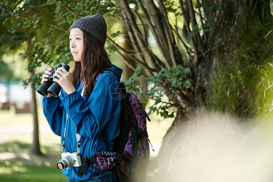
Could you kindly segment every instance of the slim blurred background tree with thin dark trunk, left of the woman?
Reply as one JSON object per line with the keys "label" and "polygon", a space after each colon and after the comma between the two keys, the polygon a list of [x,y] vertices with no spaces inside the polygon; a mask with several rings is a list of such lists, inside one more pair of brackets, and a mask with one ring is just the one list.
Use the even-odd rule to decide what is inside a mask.
{"label": "slim blurred background tree with thin dark trunk, left of the woman", "polygon": [[[32,152],[37,155],[42,155],[39,145],[39,130],[38,130],[38,116],[37,116],[37,104],[36,104],[36,96],[35,96],[35,83],[32,79],[39,77],[34,74],[34,67],[32,66],[34,61],[33,58],[33,42],[38,37],[40,32],[35,32],[35,21],[31,19],[31,23],[29,23],[28,17],[29,9],[34,8],[32,4],[29,4],[29,9],[22,13],[20,11],[24,11],[23,8],[20,10],[27,1],[21,2],[11,2],[11,1],[2,1],[0,10],[1,10],[1,23],[3,24],[2,31],[4,32],[1,36],[2,42],[1,44],[10,47],[12,50],[20,50],[22,49],[25,54],[23,54],[23,58],[27,58],[29,62],[28,71],[30,73],[31,79],[29,79],[28,83],[32,84],[32,107],[31,112],[33,115],[33,123],[34,123],[34,134],[33,134],[33,146]],[[43,5],[38,6],[41,7]],[[36,9],[37,10],[37,9]],[[41,8],[38,10],[41,12]],[[25,17],[24,17],[25,16]],[[3,23],[6,22],[6,23]],[[31,27],[33,25],[33,27]],[[28,34],[26,34],[26,32]],[[39,63],[36,63],[39,64]]]}

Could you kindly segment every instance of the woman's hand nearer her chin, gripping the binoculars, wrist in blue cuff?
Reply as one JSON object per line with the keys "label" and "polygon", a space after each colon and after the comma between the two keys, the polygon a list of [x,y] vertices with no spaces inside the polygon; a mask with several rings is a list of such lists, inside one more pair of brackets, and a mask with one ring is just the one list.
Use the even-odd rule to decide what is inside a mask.
{"label": "woman's hand nearer her chin, gripping the binoculars, wrist in blue cuff", "polygon": [[55,73],[53,74],[53,77],[55,76],[59,79],[54,78],[53,81],[57,82],[67,94],[76,91],[74,85],[72,84],[71,77],[65,68],[58,68],[57,71],[55,71]]}

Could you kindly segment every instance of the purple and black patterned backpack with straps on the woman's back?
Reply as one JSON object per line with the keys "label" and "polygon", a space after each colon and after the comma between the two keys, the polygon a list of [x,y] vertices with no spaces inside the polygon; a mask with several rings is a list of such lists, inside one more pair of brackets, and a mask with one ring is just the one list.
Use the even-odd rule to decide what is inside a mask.
{"label": "purple and black patterned backpack with straps on the woman's back", "polygon": [[[104,72],[115,75],[109,70],[102,73]],[[84,158],[85,161],[77,174],[81,177],[89,165],[93,164],[94,168],[101,170],[116,169],[119,182],[145,182],[150,159],[150,140],[148,139],[146,118],[151,120],[136,94],[127,92],[123,82],[119,82],[119,88],[121,99],[120,134],[114,143],[115,151],[109,151],[107,146],[108,151],[99,151],[92,157]],[[104,136],[107,144],[105,131]]]}

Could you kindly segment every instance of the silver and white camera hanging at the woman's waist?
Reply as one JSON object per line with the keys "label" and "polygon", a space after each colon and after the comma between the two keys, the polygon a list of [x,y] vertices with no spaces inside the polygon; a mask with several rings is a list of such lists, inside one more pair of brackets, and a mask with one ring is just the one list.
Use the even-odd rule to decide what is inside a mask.
{"label": "silver and white camera hanging at the woman's waist", "polygon": [[69,167],[75,166],[81,166],[82,165],[82,159],[80,154],[77,154],[77,152],[63,152],[62,153],[62,160],[60,160],[57,163],[57,167],[60,170],[68,169]]}

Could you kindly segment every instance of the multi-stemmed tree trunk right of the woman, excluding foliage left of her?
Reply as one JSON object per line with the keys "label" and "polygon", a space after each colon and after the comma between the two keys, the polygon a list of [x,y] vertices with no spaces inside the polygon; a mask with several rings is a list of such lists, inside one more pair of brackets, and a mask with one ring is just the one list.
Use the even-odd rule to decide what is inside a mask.
{"label": "multi-stemmed tree trunk right of the woman, excluding foliage left of her", "polygon": [[[176,108],[169,132],[200,107],[239,117],[256,116],[257,108],[265,107],[259,92],[270,87],[256,88],[261,83],[257,70],[272,56],[272,35],[265,39],[273,25],[269,0],[179,0],[179,4],[136,0],[135,8],[126,0],[117,2],[133,42],[133,58],[145,68],[141,73],[150,81],[164,82],[169,102],[156,100],[159,106],[151,110],[166,117],[172,116],[172,106]],[[151,49],[145,28],[160,56]],[[120,47],[119,51],[131,54]],[[159,158],[170,155],[164,148],[175,147],[172,141],[177,140],[169,132]]]}

